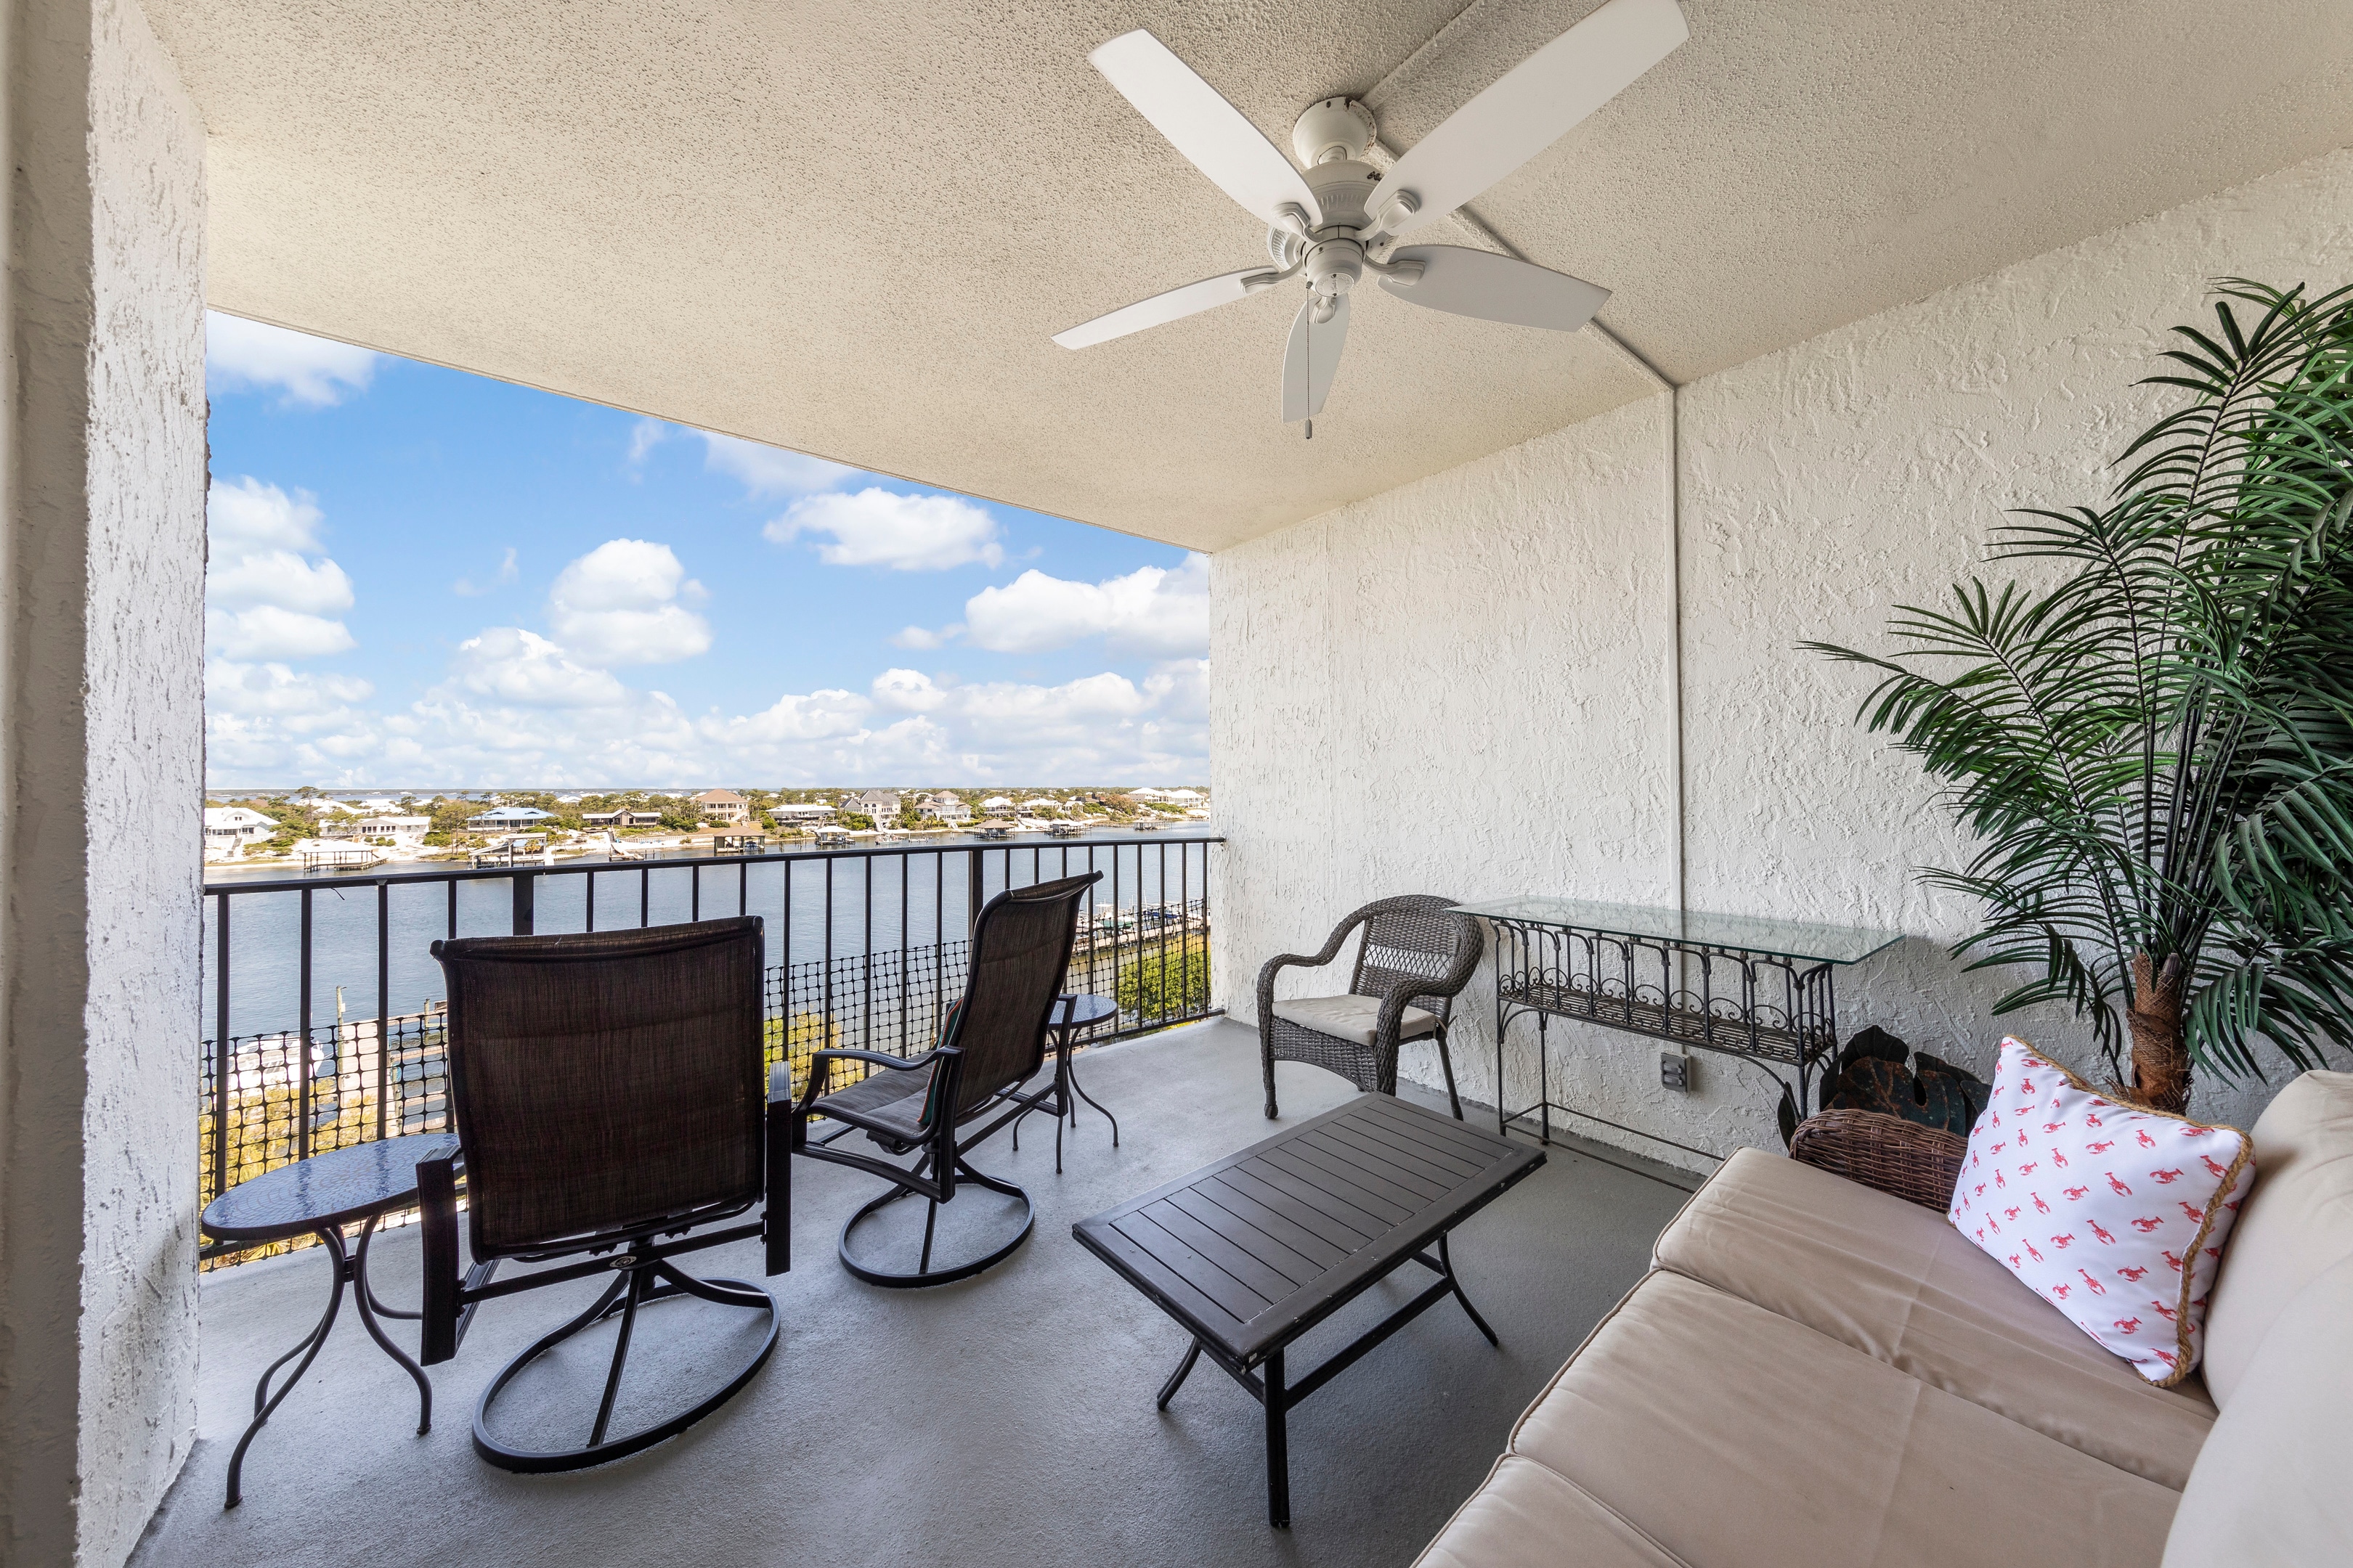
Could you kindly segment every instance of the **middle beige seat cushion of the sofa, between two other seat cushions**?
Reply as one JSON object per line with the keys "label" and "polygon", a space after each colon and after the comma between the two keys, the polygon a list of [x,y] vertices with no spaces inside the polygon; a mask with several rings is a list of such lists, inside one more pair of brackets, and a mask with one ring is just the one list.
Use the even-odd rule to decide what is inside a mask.
{"label": "middle beige seat cushion of the sofa, between two other seat cushions", "polygon": [[2153,1568],[2177,1502],[1666,1269],[1593,1331],[1511,1453],[1692,1568]]}

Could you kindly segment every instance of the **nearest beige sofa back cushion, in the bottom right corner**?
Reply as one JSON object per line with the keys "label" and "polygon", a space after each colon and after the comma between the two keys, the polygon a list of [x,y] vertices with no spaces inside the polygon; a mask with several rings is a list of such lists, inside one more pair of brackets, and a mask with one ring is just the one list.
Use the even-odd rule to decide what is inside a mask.
{"label": "nearest beige sofa back cushion, in the bottom right corner", "polygon": [[2304,1286],[2240,1368],[2181,1493],[2165,1568],[2353,1563],[2353,1483],[2344,1474],[2353,1448],[2348,1324],[2353,1258]]}

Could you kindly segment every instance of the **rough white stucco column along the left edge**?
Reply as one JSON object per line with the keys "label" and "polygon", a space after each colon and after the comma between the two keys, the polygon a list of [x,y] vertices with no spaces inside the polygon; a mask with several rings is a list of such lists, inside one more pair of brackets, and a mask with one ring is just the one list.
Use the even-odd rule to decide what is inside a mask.
{"label": "rough white stucco column along the left edge", "polygon": [[0,1561],[113,1568],[195,1432],[205,132],[132,0],[0,47]]}

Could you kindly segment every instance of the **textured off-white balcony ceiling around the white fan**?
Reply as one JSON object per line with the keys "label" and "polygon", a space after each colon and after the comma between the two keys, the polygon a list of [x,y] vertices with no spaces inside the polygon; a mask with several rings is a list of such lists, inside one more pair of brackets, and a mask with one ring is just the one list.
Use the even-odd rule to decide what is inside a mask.
{"label": "textured off-white balcony ceiling around the white fan", "polygon": [[[1595,0],[146,7],[224,310],[1209,550],[1645,393],[1591,334],[1369,294],[1304,442],[1289,289],[1047,341],[1266,254],[1101,40],[1153,28],[1278,146],[1348,92],[1407,148]],[[1678,381],[2353,143],[2346,0],[1685,12],[1475,205]]]}

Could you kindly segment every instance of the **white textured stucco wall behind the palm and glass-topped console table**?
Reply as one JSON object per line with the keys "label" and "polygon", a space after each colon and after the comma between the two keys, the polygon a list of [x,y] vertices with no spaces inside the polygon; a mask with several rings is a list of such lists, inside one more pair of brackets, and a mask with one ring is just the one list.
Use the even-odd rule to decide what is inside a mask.
{"label": "white textured stucco wall behind the palm and glass-topped console table", "polygon": [[[2353,280],[2353,153],[1685,388],[1680,590],[1664,397],[1212,557],[1219,1001],[1254,1018],[1266,954],[1384,893],[1671,903],[1680,599],[1687,905],[1906,931],[1840,976],[1849,1032],[1986,1070],[2017,1030],[2094,1067],[2087,1030],[1995,1023],[2005,983],[1946,959],[1969,910],[1908,870],[1955,863],[1960,835],[1857,729],[1871,682],[1795,644],[1880,644],[1894,602],[1977,567],[2002,508],[2097,501],[2155,407],[2134,381],[2221,275]],[[1457,1072],[1492,1103],[1485,976],[1457,1018]],[[1532,1039],[1513,1025],[1513,1105],[1534,1098]],[[1657,1041],[1562,1023],[1551,1041],[1555,1098],[1565,1081],[1682,1143],[1779,1147],[1758,1067],[1701,1056],[1671,1095]],[[1405,1070],[1435,1081],[1435,1056],[1407,1048]],[[2195,1107],[2245,1121],[2268,1093],[2202,1081]]]}

